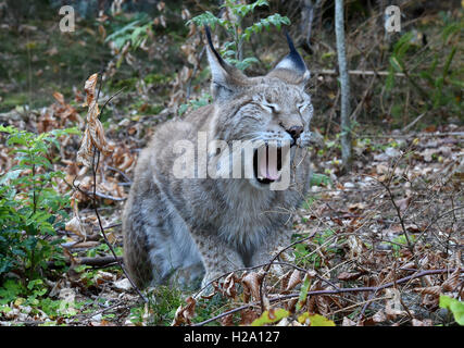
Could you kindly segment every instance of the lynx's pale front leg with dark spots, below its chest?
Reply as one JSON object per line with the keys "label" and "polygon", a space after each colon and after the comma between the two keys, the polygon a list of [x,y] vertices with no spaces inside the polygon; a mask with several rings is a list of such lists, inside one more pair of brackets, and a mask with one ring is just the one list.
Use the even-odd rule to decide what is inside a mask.
{"label": "lynx's pale front leg with dark spots, below its chest", "polygon": [[202,287],[220,275],[244,268],[242,257],[218,236],[197,232],[192,237],[206,270],[201,283]]}

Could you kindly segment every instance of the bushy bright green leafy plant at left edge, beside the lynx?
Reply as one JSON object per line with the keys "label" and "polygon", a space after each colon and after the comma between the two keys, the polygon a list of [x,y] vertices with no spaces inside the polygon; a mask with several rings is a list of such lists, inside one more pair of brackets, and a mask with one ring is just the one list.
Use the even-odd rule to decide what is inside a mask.
{"label": "bushy bright green leafy plant at left edge, beside the lynx", "polygon": [[78,134],[75,128],[36,135],[13,126],[7,133],[16,165],[0,176],[0,279],[14,271],[29,281],[37,278],[47,261],[59,260],[57,229],[67,219],[68,195],[57,191],[64,173],[53,169],[51,148],[58,138]]}

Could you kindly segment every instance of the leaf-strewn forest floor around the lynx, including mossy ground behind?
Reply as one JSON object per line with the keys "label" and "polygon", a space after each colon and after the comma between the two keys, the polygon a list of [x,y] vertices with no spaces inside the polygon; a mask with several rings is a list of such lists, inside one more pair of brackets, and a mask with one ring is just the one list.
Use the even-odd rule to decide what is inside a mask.
{"label": "leaf-strewn forest floor around the lynx, including mossy ground behind", "polygon": [[[52,27],[52,23],[34,21],[17,30],[0,26],[1,124],[37,133],[85,128],[84,83],[100,71],[102,61],[115,57],[103,48],[99,27],[81,23],[77,38],[58,35]],[[20,37],[26,39],[20,41]],[[172,37],[177,46],[185,41]],[[208,76],[200,72],[190,82],[183,80],[184,70],[176,65],[180,59],[170,61],[175,54],[168,50],[175,45],[166,45],[164,39],[154,38],[153,57],[161,64],[155,67],[162,66],[159,70],[165,75],[146,70],[151,60],[134,67],[124,63],[127,57],[116,57],[123,67],[113,66],[115,75],[106,76],[100,108],[115,91],[125,90],[114,96],[100,117],[113,150],[101,157],[95,175],[76,163],[81,136],[63,136],[60,149],[50,150],[53,170],[65,174],[57,190],[72,196],[76,209],[68,209],[70,216],[77,215],[80,222],[58,231],[66,265],[49,263],[40,288],[45,293],[18,295],[14,283],[0,284],[0,325],[249,325],[264,309],[267,316],[261,318],[262,324],[308,325],[316,320],[314,313],[324,316],[319,324],[343,326],[455,324],[453,315],[440,307],[440,296],[464,297],[461,115],[444,105],[424,119],[404,112],[404,120],[399,121],[393,111],[401,109],[401,114],[407,104],[396,108],[398,90],[386,98],[385,102],[393,101],[380,112],[369,100],[380,95],[384,83],[379,80],[376,89],[366,84],[367,78],[353,78],[363,88],[355,94],[363,111],[359,113],[362,125],[353,128],[352,170],[342,174],[340,128],[335,121],[337,82],[317,74],[311,90],[313,130],[324,136],[309,149],[315,175],[292,221],[290,257],[283,256],[269,272],[263,265],[225,274],[209,296],[159,286],[143,291],[148,299],[143,302],[117,264],[123,254],[121,213],[138,153],[158,124],[178,114],[183,100],[198,100],[208,88]],[[266,50],[263,57],[269,52],[278,55],[274,47]],[[330,64],[336,60],[330,50],[312,58],[319,70],[334,67]],[[362,61],[360,54],[355,59]],[[328,62],[327,66],[321,62]],[[170,63],[173,66],[166,66]],[[192,70],[187,69],[186,75]],[[134,71],[143,78],[134,77]],[[185,91],[190,92],[190,87],[189,96]],[[406,83],[396,88],[409,100]],[[183,94],[176,95],[179,90]],[[356,85],[353,90],[358,91]],[[416,99],[416,104],[424,104]],[[378,122],[363,124],[365,114]],[[430,122],[436,115],[442,120]],[[0,174],[16,164],[5,139],[1,135]]]}

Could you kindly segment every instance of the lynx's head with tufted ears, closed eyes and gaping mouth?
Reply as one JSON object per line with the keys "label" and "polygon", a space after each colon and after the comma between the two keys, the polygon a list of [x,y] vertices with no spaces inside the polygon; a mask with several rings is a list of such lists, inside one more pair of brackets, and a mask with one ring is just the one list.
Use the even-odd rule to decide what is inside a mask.
{"label": "lynx's head with tufted ears, closed eyes and gaping mouth", "polygon": [[313,107],[304,87],[310,72],[288,34],[290,52],[266,75],[248,77],[222,59],[213,47],[208,27],[205,32],[215,137],[227,142],[250,140],[263,144],[254,150],[253,160],[249,161],[252,163],[248,164],[253,171],[250,183],[265,188],[279,179],[283,161],[290,158],[290,152],[309,145]]}

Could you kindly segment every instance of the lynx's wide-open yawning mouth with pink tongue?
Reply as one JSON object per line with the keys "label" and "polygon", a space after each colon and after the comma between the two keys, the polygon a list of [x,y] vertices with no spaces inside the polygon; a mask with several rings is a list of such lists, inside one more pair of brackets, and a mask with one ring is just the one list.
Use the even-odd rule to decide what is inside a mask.
{"label": "lynx's wide-open yawning mouth with pink tongue", "polygon": [[253,173],[258,183],[269,185],[280,178],[281,167],[289,149],[262,146],[253,153]]}

